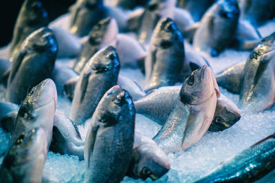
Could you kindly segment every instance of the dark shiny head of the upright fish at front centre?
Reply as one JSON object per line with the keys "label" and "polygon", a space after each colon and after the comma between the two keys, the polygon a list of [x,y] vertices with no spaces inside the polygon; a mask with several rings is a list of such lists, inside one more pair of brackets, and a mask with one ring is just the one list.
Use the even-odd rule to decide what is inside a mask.
{"label": "dark shiny head of the upright fish at front centre", "polygon": [[104,94],[98,107],[96,117],[98,121],[107,126],[122,121],[124,117],[122,113],[135,115],[133,101],[129,93],[118,85],[113,86]]}

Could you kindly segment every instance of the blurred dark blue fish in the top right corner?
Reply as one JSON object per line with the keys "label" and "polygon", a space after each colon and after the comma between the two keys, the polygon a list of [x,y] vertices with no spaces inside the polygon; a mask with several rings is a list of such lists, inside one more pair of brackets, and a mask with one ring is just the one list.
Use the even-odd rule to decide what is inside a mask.
{"label": "blurred dark blue fish in the top right corner", "polygon": [[272,0],[241,0],[239,5],[241,8],[240,18],[249,21],[256,27],[275,17],[275,2]]}

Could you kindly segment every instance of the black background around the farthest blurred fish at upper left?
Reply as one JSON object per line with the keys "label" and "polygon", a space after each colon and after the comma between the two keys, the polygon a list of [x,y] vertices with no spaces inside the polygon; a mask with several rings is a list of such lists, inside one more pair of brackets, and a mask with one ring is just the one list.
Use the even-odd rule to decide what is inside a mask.
{"label": "black background around the farthest blurred fish at upper left", "polygon": [[[68,11],[70,5],[76,0],[40,0],[48,12],[50,21]],[[23,0],[0,1],[0,47],[7,45],[12,39],[14,23]]]}

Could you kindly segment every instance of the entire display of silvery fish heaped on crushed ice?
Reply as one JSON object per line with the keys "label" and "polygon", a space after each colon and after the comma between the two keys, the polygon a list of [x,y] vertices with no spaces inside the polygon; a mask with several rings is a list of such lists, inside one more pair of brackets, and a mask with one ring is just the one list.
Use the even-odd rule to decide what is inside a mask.
{"label": "entire display of silvery fish heaped on crushed ice", "polygon": [[[0,60],[0,123],[12,134],[0,180],[58,182],[43,171],[49,150],[84,160],[85,182],[161,178],[168,153],[274,104],[275,32],[261,38],[256,29],[274,10],[273,0],[78,0],[68,32],[49,25],[39,1],[25,0],[10,58]],[[215,76],[203,54],[228,48],[252,52]],[[144,87],[122,68],[140,69]],[[237,106],[218,84],[240,95]],[[68,115],[56,110],[59,96],[72,101]],[[135,113],[162,125],[153,139],[135,132]],[[197,182],[258,180],[274,156],[273,134]]]}

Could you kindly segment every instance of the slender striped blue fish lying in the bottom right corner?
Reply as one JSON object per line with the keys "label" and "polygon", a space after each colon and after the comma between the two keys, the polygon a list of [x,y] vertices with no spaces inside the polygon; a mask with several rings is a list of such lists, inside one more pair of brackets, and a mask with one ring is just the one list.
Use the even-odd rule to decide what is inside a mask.
{"label": "slender striped blue fish lying in the bottom right corner", "polygon": [[196,183],[254,182],[275,168],[275,134],[267,136],[219,166]]}

